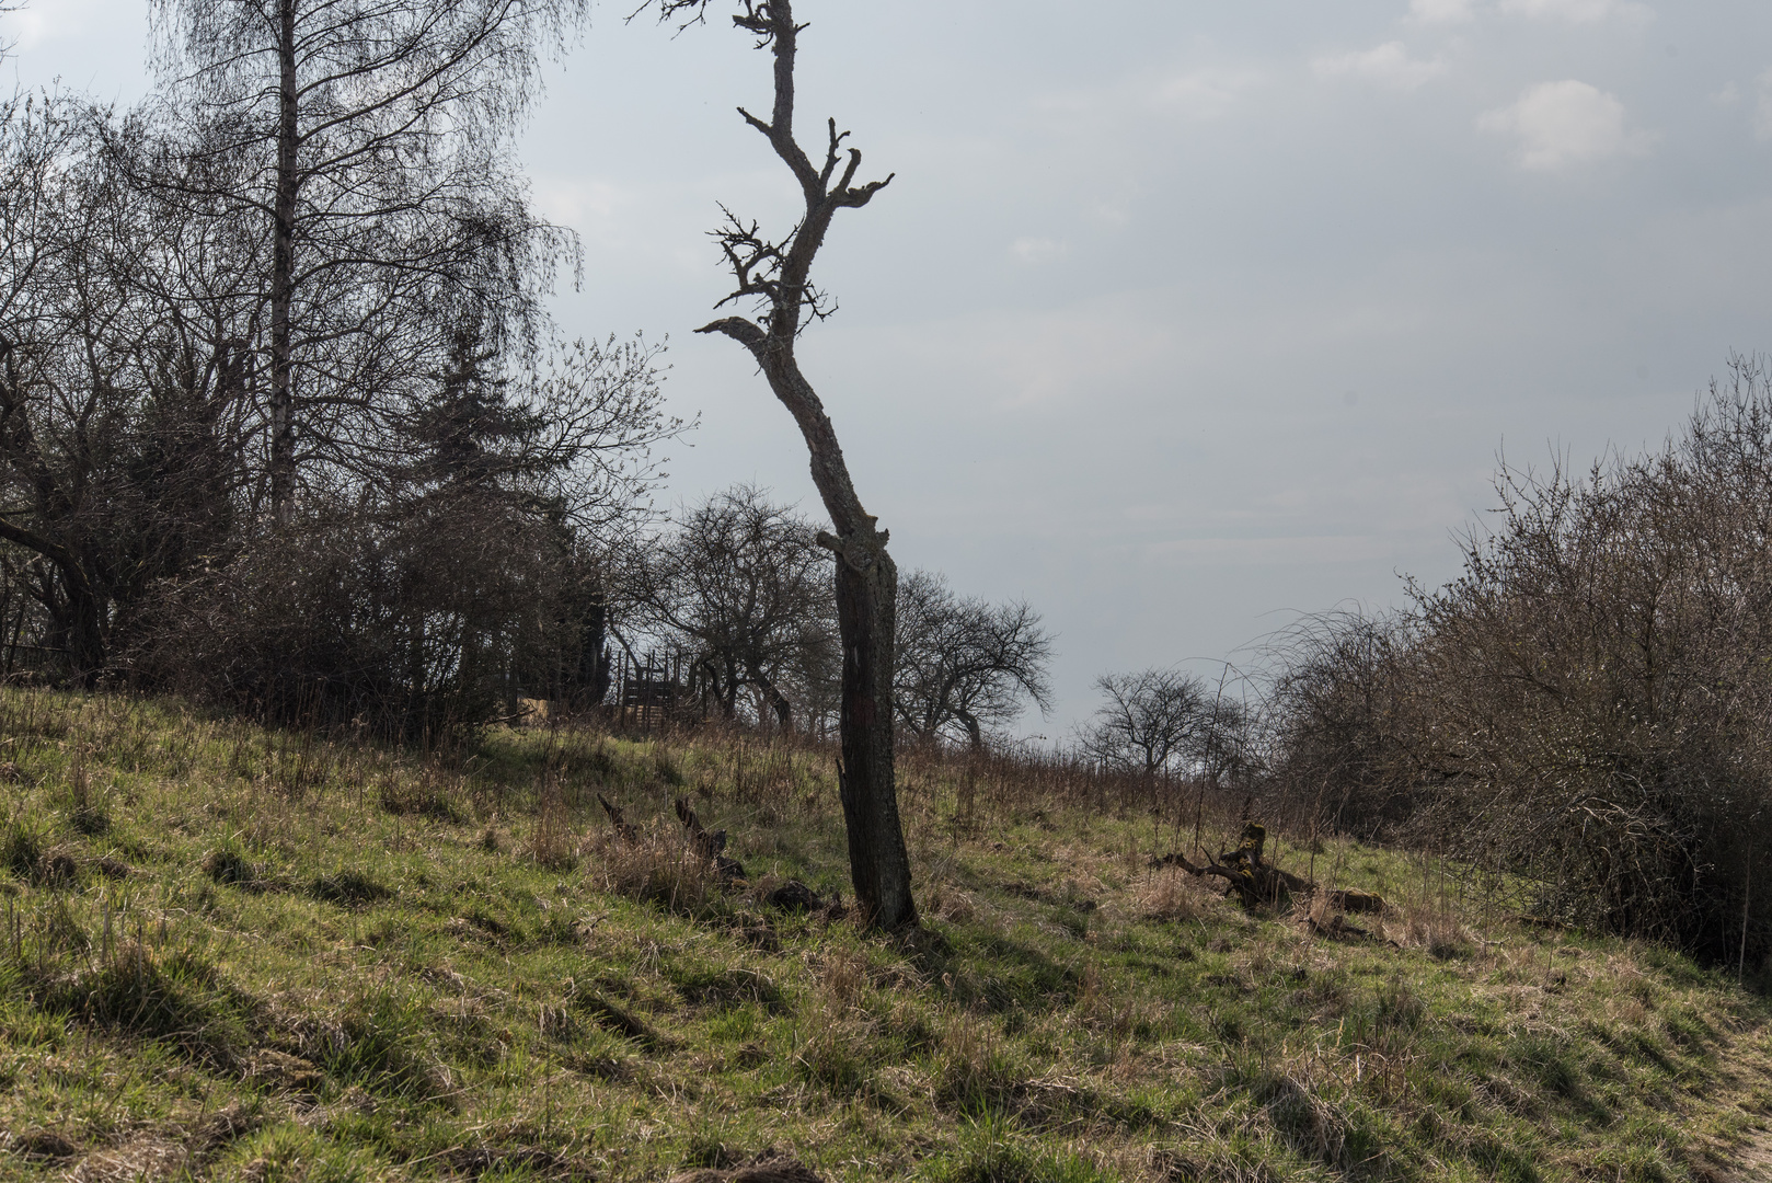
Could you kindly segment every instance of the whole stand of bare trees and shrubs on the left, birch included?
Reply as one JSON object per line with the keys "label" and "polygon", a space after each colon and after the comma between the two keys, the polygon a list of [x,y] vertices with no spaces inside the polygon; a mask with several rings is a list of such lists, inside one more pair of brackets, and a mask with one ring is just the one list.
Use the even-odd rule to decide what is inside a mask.
{"label": "whole stand of bare trees and shrubs on the left, birch included", "polygon": [[408,734],[602,697],[684,424],[539,305],[509,131],[578,11],[167,4],[138,110],[0,105],[5,676]]}

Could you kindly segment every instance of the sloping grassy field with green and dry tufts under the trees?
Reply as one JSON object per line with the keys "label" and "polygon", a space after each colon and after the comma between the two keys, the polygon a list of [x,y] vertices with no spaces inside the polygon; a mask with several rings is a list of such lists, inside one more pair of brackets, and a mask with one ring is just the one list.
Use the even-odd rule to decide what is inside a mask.
{"label": "sloping grassy field with green and dry tufts under the trees", "polygon": [[828,754],[23,690],[0,795],[5,1179],[1747,1179],[1772,1140],[1763,991],[1434,858],[1281,835],[1391,912],[1249,915],[1150,866],[1173,819],[916,763],[893,940],[766,903],[847,894]]}

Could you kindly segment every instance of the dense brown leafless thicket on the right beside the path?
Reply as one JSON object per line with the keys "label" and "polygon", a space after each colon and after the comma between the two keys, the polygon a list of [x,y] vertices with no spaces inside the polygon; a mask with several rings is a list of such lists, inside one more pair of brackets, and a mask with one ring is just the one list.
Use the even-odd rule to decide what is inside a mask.
{"label": "dense brown leafless thicket on the right beside the path", "polygon": [[[1526,876],[1556,919],[1772,949],[1772,378],[1586,475],[1504,470],[1464,575],[1301,635],[1276,773],[1343,825]],[[1765,876],[1761,876],[1765,880]]]}

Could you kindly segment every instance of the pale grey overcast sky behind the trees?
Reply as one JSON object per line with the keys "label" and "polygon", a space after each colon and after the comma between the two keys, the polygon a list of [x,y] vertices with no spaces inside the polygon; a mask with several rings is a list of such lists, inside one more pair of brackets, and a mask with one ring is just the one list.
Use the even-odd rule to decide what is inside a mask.
{"label": "pale grey overcast sky behind the trees", "polygon": [[[631,7],[631,5],[629,5]],[[718,7],[718,5],[716,5]],[[574,335],[670,337],[666,500],[817,513],[735,344],[716,202],[794,190],[734,106],[767,60],[599,5],[523,140],[585,243]],[[1772,348],[1772,5],[799,0],[801,126],[865,176],[803,364],[900,568],[1026,598],[1063,736],[1104,670],[1246,660],[1299,612],[1457,573],[1497,450],[1659,443]],[[142,0],[0,18],[23,85],[142,94]]]}

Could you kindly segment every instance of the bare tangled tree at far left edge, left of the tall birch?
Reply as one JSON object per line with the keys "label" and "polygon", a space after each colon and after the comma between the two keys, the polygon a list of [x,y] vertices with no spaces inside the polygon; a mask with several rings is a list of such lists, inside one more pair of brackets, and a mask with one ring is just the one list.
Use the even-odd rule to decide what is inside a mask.
{"label": "bare tangled tree at far left edge, left of the tall birch", "polygon": [[225,548],[246,369],[225,302],[156,282],[222,277],[236,243],[120,184],[106,121],[62,96],[0,112],[0,539],[34,555],[43,647],[89,679],[151,582]]}

